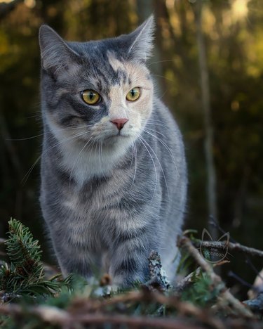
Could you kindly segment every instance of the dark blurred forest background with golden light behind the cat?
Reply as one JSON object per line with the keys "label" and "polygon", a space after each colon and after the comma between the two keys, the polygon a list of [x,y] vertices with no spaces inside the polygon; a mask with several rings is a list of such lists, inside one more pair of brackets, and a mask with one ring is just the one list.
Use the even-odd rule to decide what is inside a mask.
{"label": "dark blurred forest background with golden light behind the cat", "polygon": [[[185,228],[198,229],[201,238],[213,214],[231,238],[263,248],[262,0],[0,1],[1,237],[15,217],[47,246],[38,201],[39,26],[87,41],[131,32],[151,13],[156,42],[149,68],[186,145]],[[229,260],[224,279],[245,291],[227,273],[252,283],[255,271],[242,254]]]}

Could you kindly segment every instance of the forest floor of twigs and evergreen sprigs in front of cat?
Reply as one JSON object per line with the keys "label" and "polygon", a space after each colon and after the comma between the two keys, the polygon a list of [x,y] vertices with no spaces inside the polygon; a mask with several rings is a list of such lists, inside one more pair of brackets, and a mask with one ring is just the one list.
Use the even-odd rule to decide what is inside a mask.
{"label": "forest floor of twigs and evergreen sprigs in front of cat", "polygon": [[[227,261],[205,259],[204,243],[189,232],[177,245],[184,263],[191,259],[195,268],[175,288],[163,275],[159,254],[152,252],[149,281],[117,292],[110,291],[107,274],[89,285],[80,276],[50,277],[53,269],[43,266],[38,241],[15,219],[0,243],[8,256],[0,269],[1,328],[263,328],[262,290],[253,288],[253,299],[245,302],[234,297],[215,273]],[[260,250],[227,243],[262,257]]]}

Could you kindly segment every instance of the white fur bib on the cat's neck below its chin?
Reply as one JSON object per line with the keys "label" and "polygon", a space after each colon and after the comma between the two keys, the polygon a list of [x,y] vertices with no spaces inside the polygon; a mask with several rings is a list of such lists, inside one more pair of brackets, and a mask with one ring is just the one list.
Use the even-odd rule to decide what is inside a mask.
{"label": "white fur bib on the cat's neck below its chin", "polygon": [[83,186],[83,183],[94,177],[109,176],[120,164],[131,161],[128,155],[132,143],[123,141],[123,138],[116,138],[112,144],[98,142],[88,145],[85,141],[70,138],[63,131],[48,126],[45,130],[46,152],[50,150],[50,153],[60,153],[61,161],[58,165],[67,171],[77,186]]}

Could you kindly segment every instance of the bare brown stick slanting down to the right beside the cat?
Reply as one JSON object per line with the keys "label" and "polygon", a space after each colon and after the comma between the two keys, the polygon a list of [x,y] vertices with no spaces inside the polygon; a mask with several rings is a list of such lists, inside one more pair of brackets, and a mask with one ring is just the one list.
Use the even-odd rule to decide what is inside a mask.
{"label": "bare brown stick slanting down to the right beside the cat", "polygon": [[221,286],[220,287],[220,295],[217,297],[217,299],[221,301],[225,301],[228,304],[232,305],[234,307],[234,310],[236,313],[240,316],[245,316],[248,318],[252,318],[252,313],[249,309],[247,309],[238,299],[236,299],[229,290],[227,290],[227,287],[225,286],[224,282],[220,278],[220,276],[217,276],[215,272],[213,271],[213,266],[210,266],[208,262],[203,259],[201,254],[196,250],[194,245],[192,245],[191,240],[189,238],[183,236],[178,244],[181,247],[185,247],[189,254],[195,259],[195,261],[201,266],[201,269],[205,271],[208,274],[208,277],[212,281],[213,285],[215,286]]}

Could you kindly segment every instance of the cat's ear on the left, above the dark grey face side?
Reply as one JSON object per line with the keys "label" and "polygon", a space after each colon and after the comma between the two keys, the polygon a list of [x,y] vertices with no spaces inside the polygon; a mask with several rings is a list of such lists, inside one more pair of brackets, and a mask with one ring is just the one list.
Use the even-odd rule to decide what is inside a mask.
{"label": "cat's ear on the left, above the dark grey face side", "polygon": [[39,29],[39,46],[43,69],[53,73],[67,70],[72,60],[79,57],[48,25],[41,25]]}

